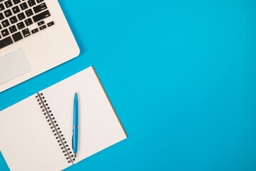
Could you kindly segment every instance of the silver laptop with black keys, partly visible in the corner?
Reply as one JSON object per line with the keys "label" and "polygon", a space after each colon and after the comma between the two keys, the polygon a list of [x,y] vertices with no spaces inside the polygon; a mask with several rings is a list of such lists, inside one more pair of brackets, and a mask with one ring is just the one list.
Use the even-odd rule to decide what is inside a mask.
{"label": "silver laptop with black keys, partly visible in the corner", "polygon": [[0,0],[0,92],[79,53],[57,0]]}

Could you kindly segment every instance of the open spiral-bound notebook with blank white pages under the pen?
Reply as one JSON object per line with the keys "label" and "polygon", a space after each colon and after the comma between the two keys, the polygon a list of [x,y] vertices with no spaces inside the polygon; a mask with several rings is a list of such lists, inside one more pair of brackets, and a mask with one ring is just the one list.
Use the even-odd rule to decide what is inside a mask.
{"label": "open spiral-bound notebook with blank white pages under the pen", "polygon": [[[79,136],[74,158],[76,91]],[[11,170],[63,170],[126,138],[93,67],[0,111],[0,150]]]}

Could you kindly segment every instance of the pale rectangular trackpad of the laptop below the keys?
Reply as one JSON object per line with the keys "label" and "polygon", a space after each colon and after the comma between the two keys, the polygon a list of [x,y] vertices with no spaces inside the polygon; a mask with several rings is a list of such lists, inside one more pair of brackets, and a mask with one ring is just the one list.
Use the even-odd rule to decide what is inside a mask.
{"label": "pale rectangular trackpad of the laptop below the keys", "polygon": [[22,48],[0,57],[0,85],[31,71]]}

